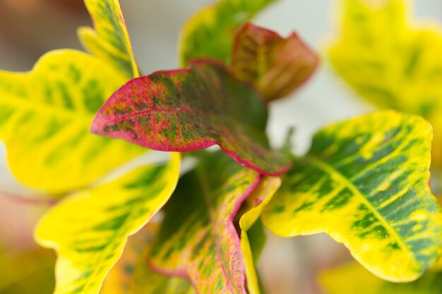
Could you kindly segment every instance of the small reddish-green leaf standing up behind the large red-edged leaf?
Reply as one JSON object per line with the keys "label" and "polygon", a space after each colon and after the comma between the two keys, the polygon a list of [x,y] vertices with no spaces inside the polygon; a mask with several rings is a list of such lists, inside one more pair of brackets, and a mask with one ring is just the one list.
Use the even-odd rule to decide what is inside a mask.
{"label": "small reddish-green leaf standing up behind the large red-edged leaf", "polygon": [[318,56],[294,32],[282,38],[247,23],[235,37],[230,70],[261,90],[266,101],[272,101],[299,88],[317,65]]}

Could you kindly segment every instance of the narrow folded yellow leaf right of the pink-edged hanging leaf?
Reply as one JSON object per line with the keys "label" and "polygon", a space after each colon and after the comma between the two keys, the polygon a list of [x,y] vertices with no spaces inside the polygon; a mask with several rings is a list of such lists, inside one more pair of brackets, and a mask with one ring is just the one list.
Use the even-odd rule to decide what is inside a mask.
{"label": "narrow folded yellow leaf right of the pink-edged hanging leaf", "polygon": [[[256,187],[249,198],[247,198],[246,209],[248,210],[241,216],[241,219],[239,219],[239,227],[241,228],[241,250],[242,254],[244,255],[244,265],[246,270],[247,288],[249,290],[249,294],[261,293],[259,288],[258,275],[256,274],[255,269],[255,262],[256,259],[258,259],[259,252],[262,249],[259,247],[261,247],[261,245],[263,244],[258,244],[258,249],[253,250],[251,244],[256,245],[256,243],[249,241],[248,231],[256,231],[256,234],[258,234],[256,242],[261,242],[261,240],[259,239],[259,234],[261,233],[260,226],[253,229],[253,225],[259,219],[259,216],[261,216],[261,212],[263,212],[263,208],[268,204],[268,202],[270,202],[280,185],[280,178],[263,178],[258,187]],[[256,236],[256,234],[253,234],[253,237]],[[261,235],[261,238],[265,237]]]}

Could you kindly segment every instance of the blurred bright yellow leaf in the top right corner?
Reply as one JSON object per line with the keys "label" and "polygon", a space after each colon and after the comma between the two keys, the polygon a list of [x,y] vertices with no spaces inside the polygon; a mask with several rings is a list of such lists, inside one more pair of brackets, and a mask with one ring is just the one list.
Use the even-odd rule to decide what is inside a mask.
{"label": "blurred bright yellow leaf in the top right corner", "polygon": [[330,60],[365,99],[419,114],[434,126],[433,164],[442,166],[442,30],[412,26],[404,0],[341,0],[341,32]]}

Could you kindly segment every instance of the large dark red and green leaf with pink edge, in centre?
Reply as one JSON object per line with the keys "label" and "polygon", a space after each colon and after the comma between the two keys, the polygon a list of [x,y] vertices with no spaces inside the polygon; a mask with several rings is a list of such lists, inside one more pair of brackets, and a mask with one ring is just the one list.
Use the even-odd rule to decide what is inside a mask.
{"label": "large dark red and green leaf with pink edge, in centre", "polygon": [[267,111],[259,94],[222,64],[198,60],[126,83],[98,111],[92,132],[160,151],[220,145],[235,161],[275,176],[289,169],[265,136]]}

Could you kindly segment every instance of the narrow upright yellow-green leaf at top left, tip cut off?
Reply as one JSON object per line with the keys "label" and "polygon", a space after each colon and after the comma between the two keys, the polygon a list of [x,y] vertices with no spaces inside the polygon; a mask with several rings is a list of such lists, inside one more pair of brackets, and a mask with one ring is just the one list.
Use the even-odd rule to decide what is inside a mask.
{"label": "narrow upright yellow-green leaf at top left, tip cut off", "polygon": [[128,78],[139,76],[131,40],[118,0],[85,0],[95,30],[80,27],[78,37],[91,54],[112,63]]}

